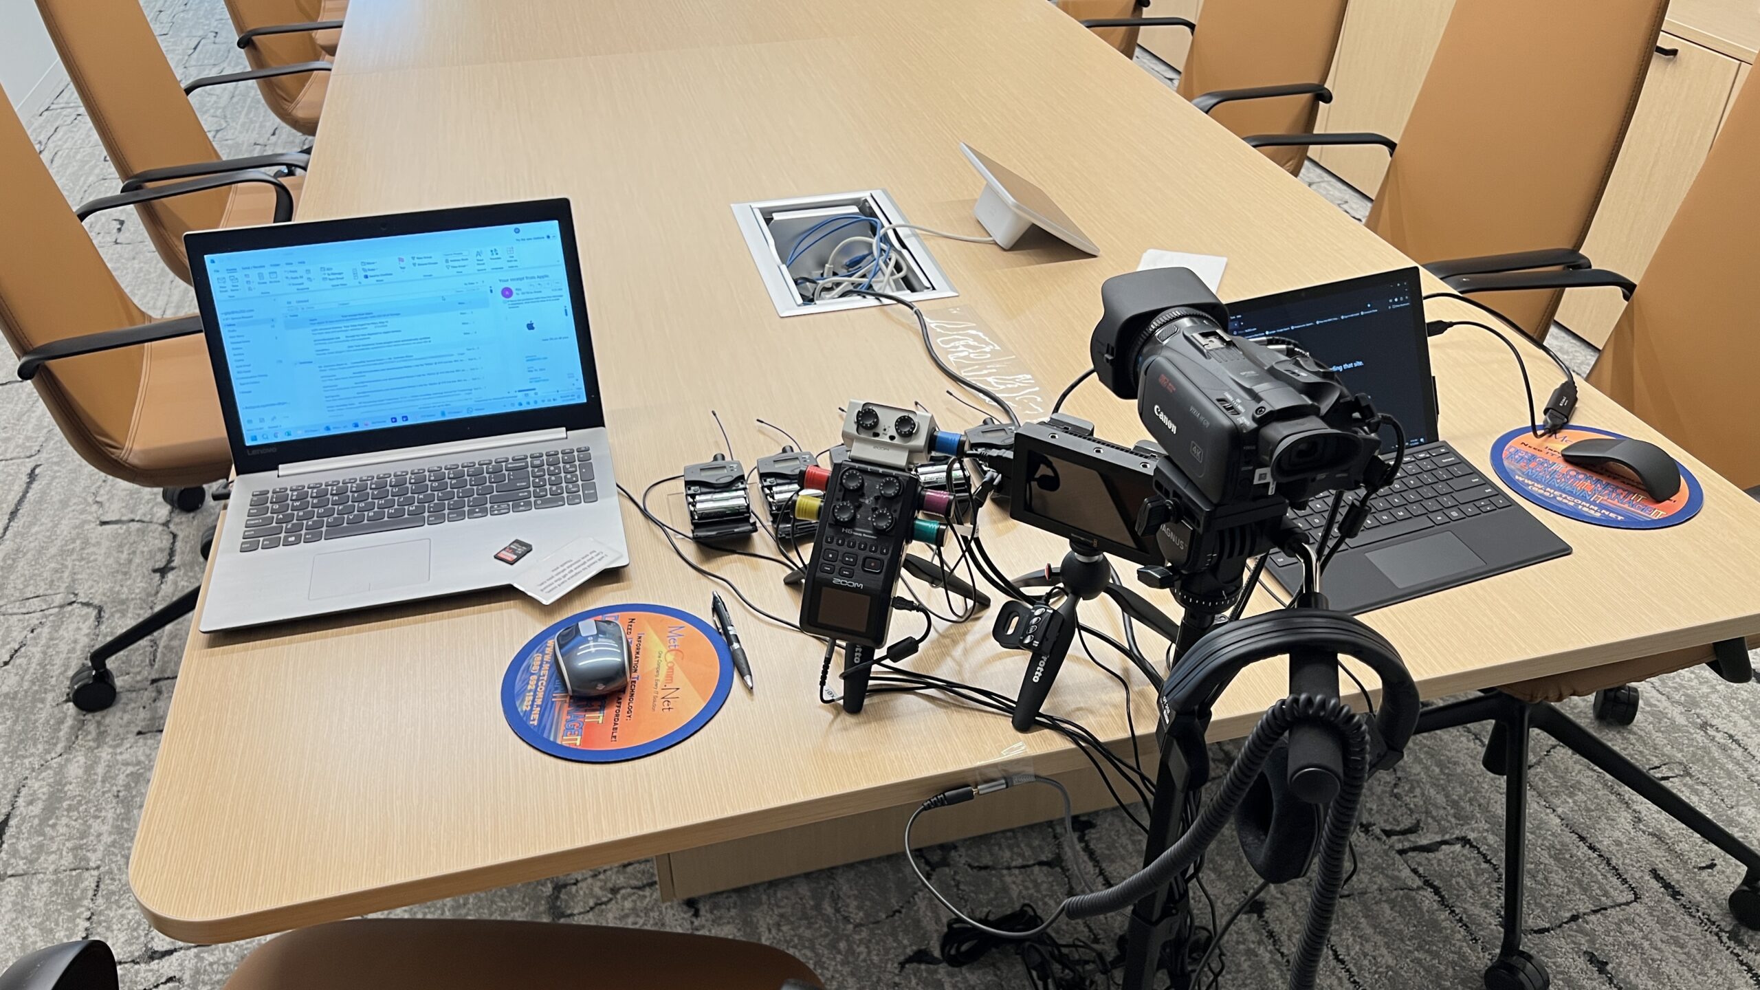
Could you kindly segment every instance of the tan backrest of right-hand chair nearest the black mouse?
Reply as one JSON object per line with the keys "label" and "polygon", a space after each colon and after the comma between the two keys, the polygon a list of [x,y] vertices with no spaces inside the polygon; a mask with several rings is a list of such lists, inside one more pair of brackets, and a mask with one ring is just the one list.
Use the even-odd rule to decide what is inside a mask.
{"label": "tan backrest of right-hand chair nearest the black mouse", "polygon": [[1741,488],[1760,484],[1755,162],[1760,86],[1749,85],[1589,372],[1595,388]]}

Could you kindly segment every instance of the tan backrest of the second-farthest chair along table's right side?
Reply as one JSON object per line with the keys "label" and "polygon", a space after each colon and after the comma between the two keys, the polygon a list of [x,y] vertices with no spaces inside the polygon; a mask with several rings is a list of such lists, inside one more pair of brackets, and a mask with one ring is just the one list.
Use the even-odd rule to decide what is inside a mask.
{"label": "tan backrest of the second-farthest chair along table's right side", "polygon": [[[1325,83],[1345,7],[1346,0],[1207,0],[1179,76],[1179,95],[1190,100],[1216,90]],[[1211,116],[1246,137],[1308,134],[1318,113],[1315,97],[1280,97],[1221,104]],[[1265,148],[1265,157],[1295,174],[1308,148]]]}

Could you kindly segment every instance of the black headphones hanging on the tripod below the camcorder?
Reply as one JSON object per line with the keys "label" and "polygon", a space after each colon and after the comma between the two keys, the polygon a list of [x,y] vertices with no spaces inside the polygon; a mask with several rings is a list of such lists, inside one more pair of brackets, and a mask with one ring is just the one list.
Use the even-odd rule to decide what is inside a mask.
{"label": "black headphones hanging on the tripod below the camcorder", "polygon": [[[1341,611],[1269,611],[1213,629],[1181,657],[1162,687],[1162,745],[1170,738],[1181,749],[1192,768],[1192,789],[1209,780],[1204,731],[1216,698],[1244,668],[1299,648],[1355,657],[1382,678],[1382,706],[1369,726],[1369,766],[1385,770],[1399,763],[1417,729],[1419,691],[1392,643]],[[1290,793],[1288,766],[1290,740],[1283,738],[1234,812],[1248,865],[1278,884],[1308,872],[1324,817],[1320,805]]]}

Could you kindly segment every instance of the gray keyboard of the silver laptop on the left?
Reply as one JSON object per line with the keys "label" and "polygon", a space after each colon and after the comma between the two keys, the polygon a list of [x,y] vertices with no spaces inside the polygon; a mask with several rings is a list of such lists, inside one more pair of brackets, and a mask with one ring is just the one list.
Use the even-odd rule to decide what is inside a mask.
{"label": "gray keyboard of the silver laptop on the left", "polygon": [[554,447],[252,491],[238,548],[252,553],[597,500],[591,447]]}

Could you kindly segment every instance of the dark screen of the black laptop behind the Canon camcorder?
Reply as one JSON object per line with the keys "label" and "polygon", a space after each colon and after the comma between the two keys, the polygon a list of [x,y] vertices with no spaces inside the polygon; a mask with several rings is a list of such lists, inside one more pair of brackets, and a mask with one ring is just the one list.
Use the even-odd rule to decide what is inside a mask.
{"label": "dark screen of the black laptop behind the Canon camcorder", "polygon": [[[1436,384],[1415,268],[1228,303],[1237,336],[1288,336],[1399,421],[1406,446],[1436,440]],[[1394,447],[1383,430],[1382,449]]]}

